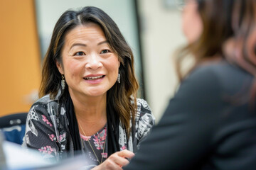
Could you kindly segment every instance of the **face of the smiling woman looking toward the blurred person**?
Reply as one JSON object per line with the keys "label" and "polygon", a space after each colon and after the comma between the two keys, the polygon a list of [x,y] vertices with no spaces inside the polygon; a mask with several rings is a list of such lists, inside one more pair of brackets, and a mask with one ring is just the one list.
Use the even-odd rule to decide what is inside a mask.
{"label": "face of the smiling woman looking toward the blurred person", "polygon": [[77,26],[65,35],[62,64],[70,96],[103,96],[115,84],[119,60],[95,23]]}

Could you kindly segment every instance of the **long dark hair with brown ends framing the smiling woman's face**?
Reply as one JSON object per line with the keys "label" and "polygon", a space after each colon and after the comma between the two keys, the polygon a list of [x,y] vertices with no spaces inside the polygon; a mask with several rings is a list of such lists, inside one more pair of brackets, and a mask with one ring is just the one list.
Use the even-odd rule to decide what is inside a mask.
{"label": "long dark hair with brown ends framing the smiling woman's face", "polygon": [[[132,113],[132,121],[134,122],[137,109],[137,89],[139,88],[134,73],[134,56],[117,24],[100,8],[87,6],[80,11],[65,11],[60,16],[55,24],[50,46],[43,62],[39,96],[42,97],[46,94],[50,94],[50,98],[57,96],[60,89],[61,74],[56,67],[56,61],[62,64],[61,50],[65,43],[65,35],[73,28],[86,23],[96,23],[102,28],[110,47],[118,55],[118,60],[121,62],[119,67],[121,82],[114,84],[107,91],[107,105],[114,108],[129,135],[129,121]],[[68,85],[66,84],[66,86]],[[68,88],[65,88],[65,91],[62,92],[63,101],[68,95]]]}

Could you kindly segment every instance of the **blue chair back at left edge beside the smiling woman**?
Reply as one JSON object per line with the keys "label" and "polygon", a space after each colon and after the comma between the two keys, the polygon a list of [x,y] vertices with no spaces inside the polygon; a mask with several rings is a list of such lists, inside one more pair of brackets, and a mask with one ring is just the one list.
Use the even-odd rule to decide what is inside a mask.
{"label": "blue chair back at left edge beside the smiling woman", "polygon": [[14,113],[0,117],[0,131],[5,140],[22,144],[26,129],[26,117],[28,113]]}

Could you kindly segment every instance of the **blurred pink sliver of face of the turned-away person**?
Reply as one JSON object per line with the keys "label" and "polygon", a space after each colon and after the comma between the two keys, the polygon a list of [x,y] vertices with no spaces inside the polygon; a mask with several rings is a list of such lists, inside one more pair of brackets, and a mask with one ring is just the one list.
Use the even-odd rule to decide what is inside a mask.
{"label": "blurred pink sliver of face of the turned-away person", "polygon": [[188,42],[194,42],[203,32],[203,23],[198,13],[196,0],[187,0],[182,14],[183,33]]}

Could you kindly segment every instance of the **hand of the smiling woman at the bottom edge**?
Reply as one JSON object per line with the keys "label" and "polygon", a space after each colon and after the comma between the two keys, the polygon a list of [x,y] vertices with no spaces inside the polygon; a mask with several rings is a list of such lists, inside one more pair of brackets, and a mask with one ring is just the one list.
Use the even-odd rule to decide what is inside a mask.
{"label": "hand of the smiling woman at the bottom edge", "polygon": [[134,157],[134,153],[129,150],[115,152],[110,155],[105,162],[96,166],[92,170],[122,170],[122,166],[129,164],[129,161],[126,158],[131,159],[132,157]]}

